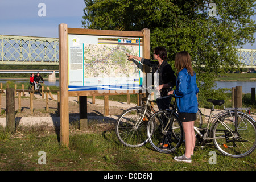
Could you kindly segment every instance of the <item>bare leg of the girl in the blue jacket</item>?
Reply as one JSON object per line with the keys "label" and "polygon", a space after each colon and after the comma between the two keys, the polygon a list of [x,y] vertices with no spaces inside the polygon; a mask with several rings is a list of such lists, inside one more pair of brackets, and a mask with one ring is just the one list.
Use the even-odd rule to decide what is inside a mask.
{"label": "bare leg of the girl in the blue jacket", "polygon": [[[194,147],[195,147],[195,131],[193,129],[193,121],[189,122],[182,122],[184,133],[185,133],[185,156],[190,158],[193,154]],[[192,130],[193,129],[193,130]]]}

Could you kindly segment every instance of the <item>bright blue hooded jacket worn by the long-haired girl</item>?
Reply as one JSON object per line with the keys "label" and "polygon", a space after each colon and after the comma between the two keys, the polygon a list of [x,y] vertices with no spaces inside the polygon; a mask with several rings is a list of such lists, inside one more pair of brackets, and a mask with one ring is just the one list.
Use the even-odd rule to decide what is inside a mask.
{"label": "bright blue hooded jacket worn by the long-haired girl", "polygon": [[174,90],[179,113],[197,113],[197,93],[199,88],[196,85],[196,73],[191,76],[186,68],[182,69],[177,76],[176,90]]}

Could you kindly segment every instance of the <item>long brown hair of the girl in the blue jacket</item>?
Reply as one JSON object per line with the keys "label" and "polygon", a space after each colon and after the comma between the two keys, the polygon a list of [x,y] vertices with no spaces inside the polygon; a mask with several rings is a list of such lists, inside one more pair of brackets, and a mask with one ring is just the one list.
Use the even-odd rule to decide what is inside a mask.
{"label": "long brown hair of the girl in the blue jacket", "polygon": [[188,73],[190,73],[191,76],[194,76],[191,57],[187,51],[180,51],[176,53],[175,68],[177,69],[178,73],[182,69],[186,68]]}

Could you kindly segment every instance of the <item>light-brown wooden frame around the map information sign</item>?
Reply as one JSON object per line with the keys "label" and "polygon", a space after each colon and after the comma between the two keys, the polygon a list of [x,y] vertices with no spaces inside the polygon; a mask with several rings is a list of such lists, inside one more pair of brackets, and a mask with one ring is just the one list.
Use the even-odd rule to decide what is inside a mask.
{"label": "light-brown wooden frame around the map information sign", "polygon": [[[117,30],[94,30],[84,28],[68,28],[65,23],[59,24],[59,69],[60,69],[60,143],[64,146],[69,144],[69,96],[99,96],[117,94],[139,94],[138,90],[127,90],[125,93],[112,92],[99,93],[93,91],[69,91],[68,90],[68,34],[77,35],[98,35],[98,36],[124,36],[142,38],[142,52],[146,59],[150,59],[150,30],[144,28],[142,31],[117,31]],[[143,73],[148,73],[148,69],[143,65]],[[146,80],[143,80],[143,82]],[[86,105],[86,104],[85,104]]]}

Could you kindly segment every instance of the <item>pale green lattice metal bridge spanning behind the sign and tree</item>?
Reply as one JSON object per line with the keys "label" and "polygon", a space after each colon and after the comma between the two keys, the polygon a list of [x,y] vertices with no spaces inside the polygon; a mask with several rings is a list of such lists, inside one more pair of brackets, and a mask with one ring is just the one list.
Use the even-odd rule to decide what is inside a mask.
{"label": "pale green lattice metal bridge spanning behind the sign and tree", "polygon": [[[0,35],[0,64],[59,65],[59,38]],[[256,68],[256,49],[237,49],[245,68]]]}

